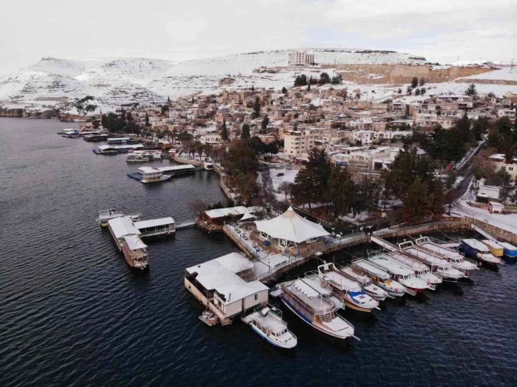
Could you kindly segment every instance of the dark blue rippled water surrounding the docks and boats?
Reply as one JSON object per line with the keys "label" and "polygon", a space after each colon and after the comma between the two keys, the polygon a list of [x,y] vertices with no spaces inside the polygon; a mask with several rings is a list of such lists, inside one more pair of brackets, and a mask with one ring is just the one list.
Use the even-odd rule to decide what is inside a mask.
{"label": "dark blue rippled water surrounding the docks and boats", "polygon": [[67,127],[0,119],[0,386],[517,385],[512,264],[372,315],[342,312],[361,342],[322,335],[289,311],[293,352],[237,321],[208,328],[183,270],[233,251],[226,236],[192,228],[152,241],[141,275],[95,218],[116,207],[189,220],[189,202],[224,199],[218,176],[143,185],[126,177],[138,166],[125,155],[55,134]]}

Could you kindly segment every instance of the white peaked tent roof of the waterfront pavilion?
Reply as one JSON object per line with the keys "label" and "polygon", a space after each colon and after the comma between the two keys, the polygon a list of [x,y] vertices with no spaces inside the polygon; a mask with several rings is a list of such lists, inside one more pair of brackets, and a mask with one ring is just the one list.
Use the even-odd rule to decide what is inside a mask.
{"label": "white peaked tent roof of the waterfront pavilion", "polygon": [[273,238],[286,239],[296,243],[330,235],[323,229],[323,226],[302,218],[292,207],[274,219],[258,220],[255,225],[258,231],[265,232]]}

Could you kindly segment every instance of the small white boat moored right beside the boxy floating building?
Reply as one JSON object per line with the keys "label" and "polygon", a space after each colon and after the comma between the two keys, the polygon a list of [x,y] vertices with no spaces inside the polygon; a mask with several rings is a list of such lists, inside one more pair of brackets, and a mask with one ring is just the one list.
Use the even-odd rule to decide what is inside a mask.
{"label": "small white boat moored right beside the boxy floating building", "polygon": [[282,320],[282,311],[268,303],[255,308],[252,314],[242,317],[242,321],[275,347],[296,347],[298,340]]}

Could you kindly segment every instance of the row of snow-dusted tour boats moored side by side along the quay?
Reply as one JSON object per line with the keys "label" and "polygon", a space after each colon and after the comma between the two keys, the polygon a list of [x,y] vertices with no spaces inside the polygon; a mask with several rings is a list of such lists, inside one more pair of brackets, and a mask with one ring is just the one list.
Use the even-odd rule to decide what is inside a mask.
{"label": "row of snow-dusted tour boats moored side by side along the quay", "polygon": [[[305,273],[305,278],[278,284],[270,294],[280,296],[286,308],[312,328],[341,339],[358,339],[354,326],[337,310],[349,307],[372,312],[386,298],[435,290],[437,284],[468,278],[479,268],[476,261],[465,258],[462,252],[428,236],[417,238],[415,243],[400,243],[398,248],[354,259],[348,266],[324,263],[317,271]],[[487,254],[495,252],[493,257],[502,256],[507,249],[509,257],[517,255],[514,246],[488,240],[465,239],[460,248],[471,257],[494,264],[500,262],[486,257]],[[254,331],[265,334],[256,328]]]}

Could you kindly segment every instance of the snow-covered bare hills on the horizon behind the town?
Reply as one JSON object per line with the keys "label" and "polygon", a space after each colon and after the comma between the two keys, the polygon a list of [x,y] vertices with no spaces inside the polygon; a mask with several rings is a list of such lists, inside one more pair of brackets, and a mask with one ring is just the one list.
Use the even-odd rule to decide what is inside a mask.
{"label": "snow-covered bare hills on the horizon behind the town", "polygon": [[[238,84],[246,84],[247,78],[255,77],[257,86],[261,83],[269,85],[272,82],[268,81],[275,82],[277,78],[252,75],[254,68],[286,66],[289,51],[250,52],[180,63],[142,58],[44,58],[32,66],[0,77],[0,105],[52,104],[41,99],[67,97],[74,100],[85,96],[94,96],[94,103],[105,107],[134,102],[154,103],[168,96],[175,98],[212,89],[219,79],[227,75],[242,81]],[[305,51],[314,53],[319,63],[425,63],[424,58],[399,52]],[[286,74],[284,78],[291,75]]]}

